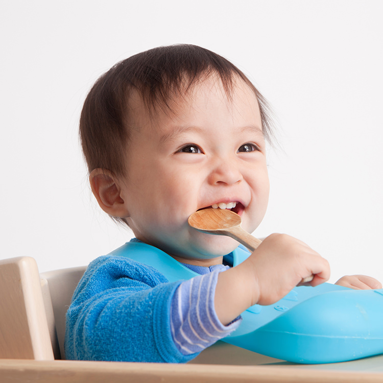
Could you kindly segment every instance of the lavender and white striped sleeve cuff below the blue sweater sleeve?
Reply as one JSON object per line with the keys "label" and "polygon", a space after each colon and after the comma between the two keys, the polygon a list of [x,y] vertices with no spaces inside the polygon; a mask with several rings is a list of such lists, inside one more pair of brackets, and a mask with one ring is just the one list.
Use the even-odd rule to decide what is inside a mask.
{"label": "lavender and white striped sleeve cuff below the blue sweater sleeve", "polygon": [[176,347],[184,355],[204,350],[228,336],[241,323],[236,318],[224,326],[214,309],[214,293],[218,274],[216,270],[182,282],[172,300],[171,330]]}

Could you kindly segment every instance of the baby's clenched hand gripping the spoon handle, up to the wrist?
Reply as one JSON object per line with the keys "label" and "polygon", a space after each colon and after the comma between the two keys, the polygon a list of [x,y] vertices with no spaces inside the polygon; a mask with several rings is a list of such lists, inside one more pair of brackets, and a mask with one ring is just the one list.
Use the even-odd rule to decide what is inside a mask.
{"label": "baby's clenched hand gripping the spoon handle, up to the wrist", "polygon": [[286,234],[269,235],[248,259],[253,264],[254,291],[258,293],[254,303],[262,305],[277,302],[303,278],[314,274],[306,284],[316,286],[330,276],[327,260]]}

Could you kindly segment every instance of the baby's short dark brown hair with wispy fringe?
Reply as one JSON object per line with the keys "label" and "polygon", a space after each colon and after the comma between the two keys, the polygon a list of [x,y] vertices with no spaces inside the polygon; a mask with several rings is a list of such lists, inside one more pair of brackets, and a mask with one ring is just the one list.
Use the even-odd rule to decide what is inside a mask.
{"label": "baby's short dark brown hair with wispy fringe", "polygon": [[114,65],[91,88],[80,118],[83,153],[91,172],[98,167],[116,176],[125,174],[129,140],[129,92],[136,90],[149,111],[167,107],[174,94],[182,95],[198,81],[217,74],[227,94],[241,78],[258,100],[262,129],[270,142],[269,106],[251,81],[222,56],[196,45],[161,46],[136,54]]}

